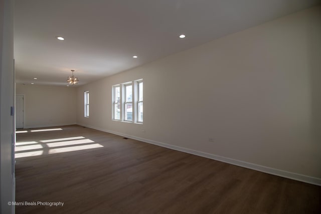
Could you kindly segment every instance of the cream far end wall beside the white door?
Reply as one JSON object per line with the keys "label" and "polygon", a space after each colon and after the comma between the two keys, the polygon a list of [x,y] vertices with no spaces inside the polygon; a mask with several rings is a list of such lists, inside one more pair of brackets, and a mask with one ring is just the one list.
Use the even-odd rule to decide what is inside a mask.
{"label": "cream far end wall beside the white door", "polygon": [[16,85],[24,95],[24,128],[76,124],[77,93],[73,87]]}

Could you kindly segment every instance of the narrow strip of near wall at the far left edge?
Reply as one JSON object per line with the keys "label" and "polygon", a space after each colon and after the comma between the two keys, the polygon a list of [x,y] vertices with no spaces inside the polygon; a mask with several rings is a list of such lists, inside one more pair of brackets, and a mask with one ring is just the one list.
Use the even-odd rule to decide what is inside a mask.
{"label": "narrow strip of near wall at the far left edge", "polygon": [[14,1],[0,1],[0,213],[15,213],[13,159],[14,116]]}

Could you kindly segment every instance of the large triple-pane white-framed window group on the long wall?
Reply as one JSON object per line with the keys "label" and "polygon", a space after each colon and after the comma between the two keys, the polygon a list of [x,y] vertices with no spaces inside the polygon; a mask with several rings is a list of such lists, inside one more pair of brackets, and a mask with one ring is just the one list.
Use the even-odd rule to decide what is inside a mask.
{"label": "large triple-pane white-framed window group on the long wall", "polygon": [[112,88],[112,119],[142,123],[142,80],[114,85]]}

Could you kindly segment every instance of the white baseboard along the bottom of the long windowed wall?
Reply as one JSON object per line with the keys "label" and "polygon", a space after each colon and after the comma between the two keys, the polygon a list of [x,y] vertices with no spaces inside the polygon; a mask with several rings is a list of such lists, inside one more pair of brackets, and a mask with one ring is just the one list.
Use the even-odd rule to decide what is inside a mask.
{"label": "white baseboard along the bottom of the long windowed wall", "polygon": [[222,162],[225,162],[225,163],[230,163],[230,164],[233,164],[233,165],[237,165],[237,166],[253,169],[253,170],[256,170],[256,171],[261,171],[261,172],[265,172],[265,173],[268,173],[268,174],[273,174],[273,175],[277,175],[277,176],[281,176],[281,177],[285,177],[285,178],[289,178],[289,179],[298,180],[298,181],[302,181],[302,182],[305,182],[305,183],[310,183],[310,184],[321,186],[321,178],[310,177],[310,176],[303,175],[303,174],[284,171],[284,170],[281,170],[281,169],[275,169],[275,168],[262,166],[262,165],[258,165],[258,164],[254,164],[254,163],[249,163],[249,162],[245,162],[245,161],[241,161],[241,160],[236,160],[236,159],[232,159],[232,158],[228,158],[228,157],[222,157],[222,156],[211,154],[211,153],[197,151],[197,150],[194,150],[194,149],[188,149],[188,148],[184,148],[184,147],[180,147],[180,146],[174,146],[174,145],[170,145],[170,144],[167,144],[167,143],[148,140],[148,139],[144,139],[144,138],[140,138],[140,137],[136,137],[136,136],[132,136],[132,135],[116,132],[116,131],[105,130],[105,129],[101,129],[101,128],[97,128],[97,127],[87,126],[87,125],[84,125],[84,124],[77,123],[77,125],[85,126],[85,127],[96,129],[96,130],[103,131],[103,132],[116,134],[116,135],[123,136],[123,137],[128,137],[128,138],[131,138],[131,139],[139,140],[139,141],[142,141],[142,142],[145,142],[145,143],[154,144],[154,145],[157,145],[157,146],[162,146],[162,147],[169,148],[169,149],[174,149],[174,150],[177,150],[177,151],[186,152],[186,153],[189,153],[189,154],[194,154],[194,155],[210,158],[210,159],[213,159],[213,160],[222,161]]}

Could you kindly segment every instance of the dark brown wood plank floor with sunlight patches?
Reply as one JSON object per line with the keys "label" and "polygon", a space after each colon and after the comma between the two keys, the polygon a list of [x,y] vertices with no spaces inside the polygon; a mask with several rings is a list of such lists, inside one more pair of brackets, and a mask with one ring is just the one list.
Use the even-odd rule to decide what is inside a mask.
{"label": "dark brown wood plank floor with sunlight patches", "polygon": [[17,133],[16,201],[64,205],[17,205],[18,214],[321,213],[320,186],[82,126],[53,128],[62,130]]}

